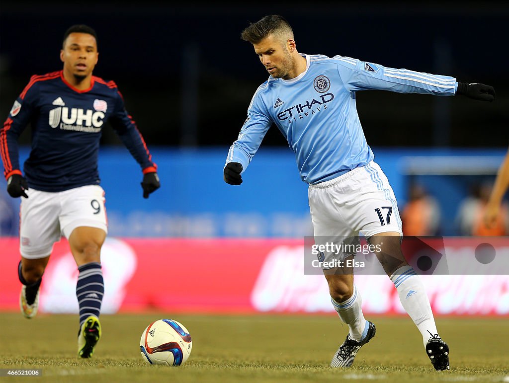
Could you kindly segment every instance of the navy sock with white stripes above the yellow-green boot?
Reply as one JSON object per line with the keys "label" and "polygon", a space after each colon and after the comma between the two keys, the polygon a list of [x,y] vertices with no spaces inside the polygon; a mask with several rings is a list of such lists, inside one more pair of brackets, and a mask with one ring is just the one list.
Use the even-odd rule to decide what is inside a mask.
{"label": "navy sock with white stripes above the yellow-green boot", "polygon": [[79,305],[79,326],[81,326],[90,315],[99,317],[104,295],[104,280],[99,262],[82,264],[78,267],[78,271],[76,298]]}

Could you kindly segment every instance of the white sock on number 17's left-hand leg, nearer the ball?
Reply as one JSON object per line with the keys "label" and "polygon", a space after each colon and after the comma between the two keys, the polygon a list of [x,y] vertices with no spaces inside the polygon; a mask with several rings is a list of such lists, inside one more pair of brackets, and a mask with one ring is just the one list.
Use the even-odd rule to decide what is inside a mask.
{"label": "white sock on number 17's left-hand leg, nearer the ball", "polygon": [[362,314],[362,298],[355,284],[353,285],[353,294],[349,299],[341,303],[337,303],[332,298],[330,301],[340,319],[350,327],[350,338],[356,341],[362,340],[366,336],[369,326]]}

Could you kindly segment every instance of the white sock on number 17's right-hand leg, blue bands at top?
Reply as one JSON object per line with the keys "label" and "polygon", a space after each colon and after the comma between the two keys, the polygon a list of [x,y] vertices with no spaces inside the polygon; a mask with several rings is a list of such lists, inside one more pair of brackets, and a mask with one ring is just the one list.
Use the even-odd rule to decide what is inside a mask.
{"label": "white sock on number 17's right-hand leg, blue bands at top", "polygon": [[433,338],[438,331],[422,280],[411,266],[399,268],[391,275],[390,280],[398,290],[403,308],[422,334],[422,342],[426,347],[428,339]]}

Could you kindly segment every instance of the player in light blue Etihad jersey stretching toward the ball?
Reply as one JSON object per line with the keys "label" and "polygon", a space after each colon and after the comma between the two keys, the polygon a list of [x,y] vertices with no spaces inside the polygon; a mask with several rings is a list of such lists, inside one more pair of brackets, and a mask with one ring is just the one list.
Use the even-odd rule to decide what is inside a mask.
{"label": "player in light blue Etihad jersey stretching toward the ball", "polygon": [[[315,242],[342,237],[370,242],[400,301],[422,334],[428,357],[437,370],[449,369],[449,347],[439,337],[424,285],[401,251],[401,220],[394,193],[366,143],[356,109],[362,90],[422,93],[493,101],[491,86],[459,83],[406,69],[386,68],[351,57],[327,57],[297,51],[290,24],[281,16],[265,16],[242,32],[269,72],[249,104],[247,119],[224,166],[224,181],[242,183],[244,172],[265,133],[275,124],[295,152],[302,181],[309,184],[309,208]],[[321,253],[321,264],[332,260]],[[341,254],[351,259],[354,254]],[[337,260],[337,259],[336,259]],[[360,292],[352,273],[324,269],[332,305],[350,331],[334,354],[331,367],[350,367],[357,351],[375,336],[364,319]]]}

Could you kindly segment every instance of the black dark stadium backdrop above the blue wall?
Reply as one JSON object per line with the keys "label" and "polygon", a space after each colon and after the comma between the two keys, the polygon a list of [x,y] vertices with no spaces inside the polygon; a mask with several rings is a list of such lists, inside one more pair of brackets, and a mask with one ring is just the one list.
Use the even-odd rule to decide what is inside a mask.
{"label": "black dark stadium backdrop above the blue wall", "polygon": [[[32,74],[61,69],[66,28],[87,23],[98,33],[94,74],[117,82],[149,145],[227,148],[252,94],[268,77],[240,32],[249,21],[279,13],[292,24],[300,52],[341,54],[496,89],[491,104],[359,92],[359,115],[371,146],[500,148],[508,143],[507,5],[157,4],[2,2],[2,119]],[[29,139],[27,130],[20,142]],[[105,130],[103,143],[119,140]],[[271,129],[262,145],[287,143]]]}

